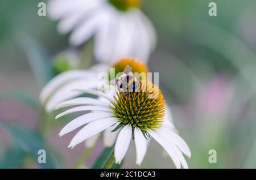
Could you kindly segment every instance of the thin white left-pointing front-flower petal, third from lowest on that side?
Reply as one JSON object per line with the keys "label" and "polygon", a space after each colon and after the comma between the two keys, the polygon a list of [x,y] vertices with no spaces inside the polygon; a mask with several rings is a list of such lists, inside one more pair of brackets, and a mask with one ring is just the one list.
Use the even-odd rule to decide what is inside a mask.
{"label": "thin white left-pointing front-flower petal, third from lowest on that side", "polygon": [[98,111],[101,111],[101,112],[111,112],[110,108],[105,108],[105,107],[102,107],[102,106],[77,106],[76,108],[71,108],[71,109],[66,110],[63,113],[58,114],[56,116],[56,119],[60,118],[60,117],[63,117],[64,115],[67,115],[67,114],[76,113],[76,112],[83,112],[83,111],[88,111],[88,110],[98,110]]}

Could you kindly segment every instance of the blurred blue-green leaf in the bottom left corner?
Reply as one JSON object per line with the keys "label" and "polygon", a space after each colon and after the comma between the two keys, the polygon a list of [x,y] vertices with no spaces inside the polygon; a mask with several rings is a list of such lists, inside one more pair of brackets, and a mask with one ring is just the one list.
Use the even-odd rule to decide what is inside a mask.
{"label": "blurred blue-green leaf in the bottom left corner", "polygon": [[[0,126],[4,127],[13,136],[16,144],[26,153],[34,156],[35,162],[40,168],[56,168],[55,161],[51,156],[51,151],[44,142],[42,135],[31,130],[28,127],[20,125],[10,125],[6,122],[0,122]],[[38,151],[44,149],[46,151],[46,163],[38,163]]]}

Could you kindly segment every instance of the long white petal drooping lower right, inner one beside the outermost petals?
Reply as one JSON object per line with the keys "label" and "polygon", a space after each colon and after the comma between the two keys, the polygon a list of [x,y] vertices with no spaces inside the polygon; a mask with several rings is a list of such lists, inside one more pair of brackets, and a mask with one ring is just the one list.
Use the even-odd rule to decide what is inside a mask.
{"label": "long white petal drooping lower right, inner one beside the outermost petals", "polygon": [[174,147],[172,147],[172,145],[170,143],[168,143],[168,141],[166,139],[162,138],[162,136],[160,136],[155,131],[148,130],[147,132],[148,132],[148,134],[150,134],[150,136],[152,136],[152,138],[154,138],[156,140],[156,142],[158,142],[160,145],[162,145],[162,147],[166,150],[168,155],[172,158],[172,161],[174,162],[175,167],[180,169],[180,166],[181,166],[180,160],[179,160],[179,157],[177,156],[177,153],[176,153]]}

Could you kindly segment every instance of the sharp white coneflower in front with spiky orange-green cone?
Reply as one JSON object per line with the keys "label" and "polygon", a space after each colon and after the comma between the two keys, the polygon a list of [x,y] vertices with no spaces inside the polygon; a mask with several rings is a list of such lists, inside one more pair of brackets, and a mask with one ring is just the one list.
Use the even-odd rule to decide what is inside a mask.
{"label": "sharp white coneflower in front with spiky orange-green cone", "polygon": [[61,130],[60,136],[85,125],[68,147],[73,148],[104,130],[111,130],[112,133],[119,131],[114,147],[115,163],[121,163],[131,139],[134,139],[136,163],[141,164],[147,150],[147,139],[152,138],[162,145],[176,168],[188,168],[183,153],[190,157],[191,152],[184,140],[174,132],[170,122],[167,123],[165,101],[156,85],[142,81],[138,92],[117,92],[115,96],[90,89],[77,91],[91,93],[104,100],[81,97],[56,106],[56,109],[76,106],[60,113],[56,118],[75,112],[94,111],[73,119]]}

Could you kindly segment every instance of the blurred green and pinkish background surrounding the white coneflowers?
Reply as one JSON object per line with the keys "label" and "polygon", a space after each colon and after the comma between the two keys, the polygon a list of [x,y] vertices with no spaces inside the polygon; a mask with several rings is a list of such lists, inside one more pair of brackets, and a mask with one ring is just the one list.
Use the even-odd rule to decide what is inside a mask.
{"label": "blurred green and pinkish background surrounding the white coneflowers", "polygon": [[[59,138],[67,119],[56,121],[38,100],[57,74],[56,54],[68,35],[57,22],[39,17],[38,0],[0,2],[0,168],[73,168],[84,145],[67,146],[75,134]],[[160,88],[171,105],[179,134],[191,148],[189,168],[256,168],[256,1],[144,0],[143,12],[158,33],[149,68],[159,72]],[[76,49],[86,68],[94,62],[93,41]],[[81,53],[82,52],[82,53]],[[134,143],[124,168],[174,168],[152,141],[141,166]],[[103,149],[100,140],[83,167]],[[47,164],[37,164],[46,149]],[[217,163],[208,161],[209,150]]]}

